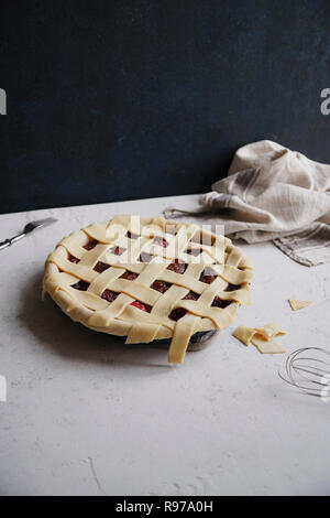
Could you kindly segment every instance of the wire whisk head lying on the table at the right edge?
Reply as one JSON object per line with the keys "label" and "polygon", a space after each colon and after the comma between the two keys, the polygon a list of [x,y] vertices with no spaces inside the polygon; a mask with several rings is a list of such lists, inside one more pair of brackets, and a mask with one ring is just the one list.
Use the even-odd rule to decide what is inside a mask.
{"label": "wire whisk head lying on the table at the right edge", "polygon": [[287,384],[301,392],[330,401],[330,352],[321,347],[304,347],[292,353],[285,364]]}

